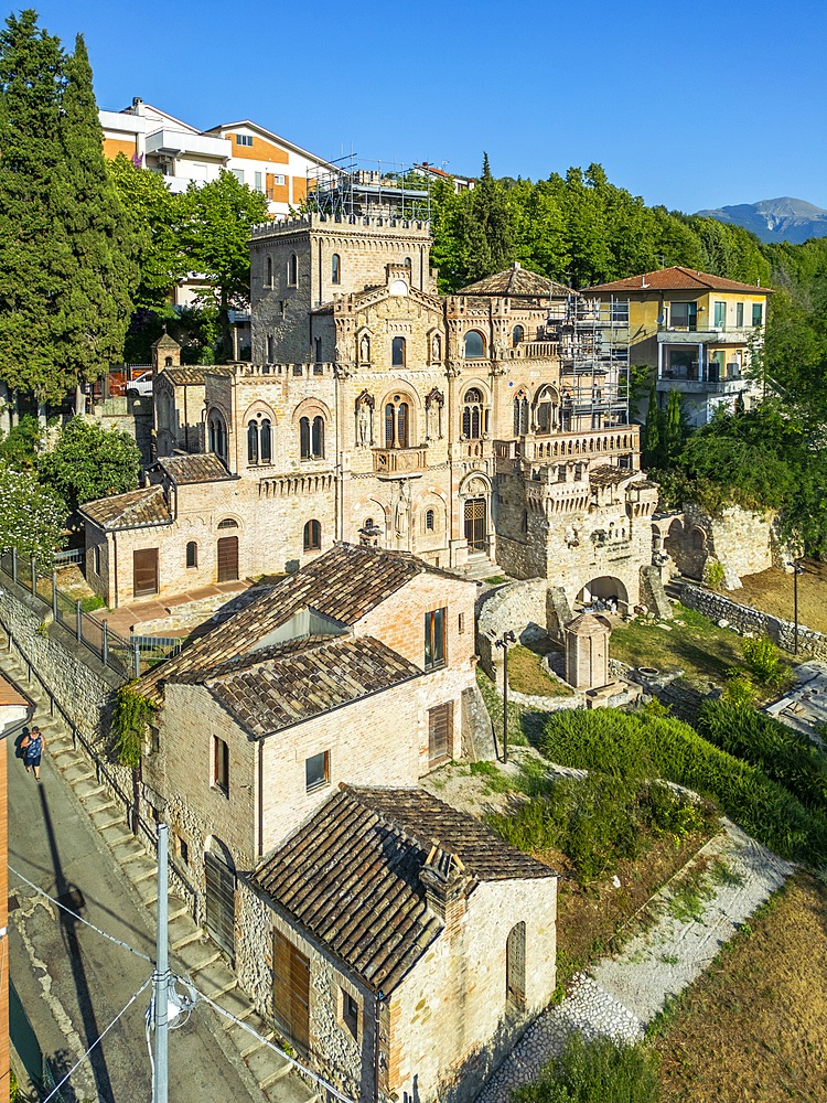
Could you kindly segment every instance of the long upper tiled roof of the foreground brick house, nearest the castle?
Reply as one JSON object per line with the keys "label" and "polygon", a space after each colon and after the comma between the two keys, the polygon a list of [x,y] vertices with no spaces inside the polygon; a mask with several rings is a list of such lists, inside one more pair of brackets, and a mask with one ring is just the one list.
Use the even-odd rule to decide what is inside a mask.
{"label": "long upper tiled roof of the foreground brick house, nearest the castle", "polygon": [[215,671],[229,660],[250,654],[270,633],[304,609],[313,609],[341,625],[355,624],[426,571],[460,581],[407,552],[336,544],[296,575],[262,588],[260,596],[245,609],[194,640],[179,655],[155,666],[141,679],[142,692],[157,698],[163,682],[186,671]]}

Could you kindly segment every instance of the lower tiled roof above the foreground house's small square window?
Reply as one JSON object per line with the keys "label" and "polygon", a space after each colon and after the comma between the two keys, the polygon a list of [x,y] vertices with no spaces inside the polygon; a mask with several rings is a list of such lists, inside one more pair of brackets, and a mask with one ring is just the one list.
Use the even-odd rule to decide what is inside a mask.
{"label": "lower tiled roof above the foreground house's small square window", "polygon": [[[230,716],[266,736],[389,689],[421,671],[370,636],[310,639],[270,649],[240,671],[225,664],[206,687]],[[192,681],[192,675],[184,675]],[[174,679],[172,679],[174,681]]]}

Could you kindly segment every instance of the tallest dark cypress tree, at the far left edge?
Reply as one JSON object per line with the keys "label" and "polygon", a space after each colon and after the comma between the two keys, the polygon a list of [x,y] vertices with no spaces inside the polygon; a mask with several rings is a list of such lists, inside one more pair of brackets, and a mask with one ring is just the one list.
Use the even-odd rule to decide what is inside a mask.
{"label": "tallest dark cypress tree, at the far left edge", "polygon": [[63,189],[63,51],[36,14],[0,32],[0,379],[58,399],[58,298],[72,268],[60,224]]}

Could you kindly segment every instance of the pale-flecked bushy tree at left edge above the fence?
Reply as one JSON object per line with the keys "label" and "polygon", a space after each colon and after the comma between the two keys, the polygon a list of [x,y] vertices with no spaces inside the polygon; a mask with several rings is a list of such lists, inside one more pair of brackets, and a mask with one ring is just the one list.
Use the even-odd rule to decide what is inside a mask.
{"label": "pale-flecked bushy tree at left edge above the fence", "polygon": [[34,558],[51,570],[53,556],[63,545],[66,507],[31,471],[15,471],[0,460],[0,553],[12,548],[23,559]]}

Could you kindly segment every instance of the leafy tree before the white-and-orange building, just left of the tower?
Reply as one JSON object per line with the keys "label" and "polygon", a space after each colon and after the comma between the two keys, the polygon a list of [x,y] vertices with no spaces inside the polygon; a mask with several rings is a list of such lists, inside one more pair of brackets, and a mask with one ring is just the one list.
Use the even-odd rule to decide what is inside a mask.
{"label": "leafy tree before the white-and-orange building, just left of the tower", "polygon": [[218,308],[218,352],[226,357],[230,352],[228,311],[250,301],[250,231],[267,219],[267,197],[239,183],[232,172],[222,171],[202,188],[190,184],[183,211],[181,244],[191,270],[206,281],[202,301]]}

